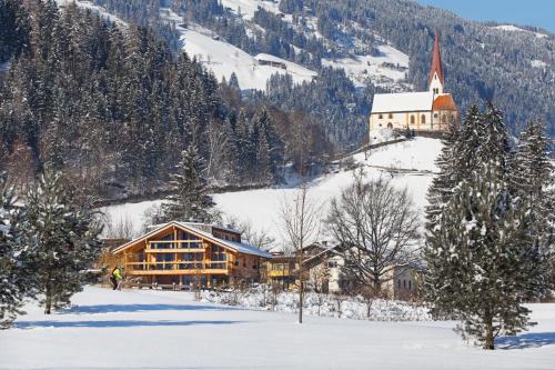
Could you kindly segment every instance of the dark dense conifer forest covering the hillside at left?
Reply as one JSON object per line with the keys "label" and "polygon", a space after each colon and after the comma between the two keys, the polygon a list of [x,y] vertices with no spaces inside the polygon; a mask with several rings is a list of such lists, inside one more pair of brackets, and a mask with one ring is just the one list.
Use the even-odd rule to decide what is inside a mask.
{"label": "dark dense conifer forest covering the hillside at left", "polygon": [[315,144],[321,133],[304,114],[244,102],[233,79],[219,83],[149,28],[54,1],[0,6],[11,22],[0,39],[11,58],[0,87],[0,171],[22,183],[50,162],[92,194],[149,194],[167,190],[181,152],[195,146],[213,187],[262,186],[281,180],[301,144],[306,161],[329,149]]}

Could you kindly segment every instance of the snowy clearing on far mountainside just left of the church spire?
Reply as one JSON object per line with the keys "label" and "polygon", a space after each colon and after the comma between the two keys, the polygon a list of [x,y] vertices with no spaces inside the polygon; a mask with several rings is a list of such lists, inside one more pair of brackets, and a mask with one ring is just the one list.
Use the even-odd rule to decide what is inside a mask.
{"label": "snowy clearing on far mountainside just left of the church spire", "polygon": [[353,80],[357,87],[366,86],[370,78],[380,86],[383,78],[394,82],[405,80],[408,70],[408,56],[391,47],[379,46],[380,56],[355,56],[354,58],[343,58],[336,60],[322,59],[322,66],[329,66],[337,69],[344,69],[345,73]]}

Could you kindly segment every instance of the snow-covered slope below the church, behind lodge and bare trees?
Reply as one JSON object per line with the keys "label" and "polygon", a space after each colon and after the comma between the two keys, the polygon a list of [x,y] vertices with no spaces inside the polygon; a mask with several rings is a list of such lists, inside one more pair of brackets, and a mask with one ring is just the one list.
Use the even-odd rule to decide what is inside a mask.
{"label": "snow-covered slope below the church, behind lodge and bare trees", "polygon": [[[391,178],[393,184],[400,188],[406,187],[413,196],[415,206],[423,211],[427,204],[426,192],[433,178],[435,158],[442,148],[441,141],[427,138],[416,138],[412,141],[395,143],[375,149],[369,159],[364,153],[354,156],[369,178],[385,176]],[[393,171],[389,171],[391,168]],[[398,170],[411,170],[398,173]],[[322,206],[322,214],[333,197],[353,181],[353,171],[337,171],[313,179],[310,197]],[[280,206],[284,200],[293,199],[295,189],[293,184],[225,192],[214,194],[216,207],[228,216],[233,216],[240,221],[250,222],[254,229],[264,230],[276,240],[276,248],[283,247],[284,236],[280,221]],[[129,220],[135,230],[140,232],[143,223],[144,211],[160,204],[160,200],[144,201],[140,203],[127,203],[111,206],[104,209],[109,219],[113,222]]]}

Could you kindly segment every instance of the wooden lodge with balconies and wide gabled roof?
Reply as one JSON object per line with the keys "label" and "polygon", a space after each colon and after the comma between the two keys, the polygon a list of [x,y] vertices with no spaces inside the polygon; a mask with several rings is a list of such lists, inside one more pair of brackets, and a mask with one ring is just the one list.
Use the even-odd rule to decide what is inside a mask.
{"label": "wooden lodge with balconies and wide gabled roof", "polygon": [[241,241],[234,230],[204,223],[169,222],[112,253],[137,286],[185,288],[252,283],[271,256]]}

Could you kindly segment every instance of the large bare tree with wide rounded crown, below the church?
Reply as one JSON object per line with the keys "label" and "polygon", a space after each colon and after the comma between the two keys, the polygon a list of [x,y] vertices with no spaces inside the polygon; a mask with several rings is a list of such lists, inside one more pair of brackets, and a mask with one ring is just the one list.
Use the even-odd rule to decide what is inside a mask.
{"label": "large bare tree with wide rounded crown, below the church", "polygon": [[344,273],[374,296],[416,260],[417,212],[407,190],[387,179],[365,181],[357,171],[354,183],[332,200],[327,224],[343,246]]}

